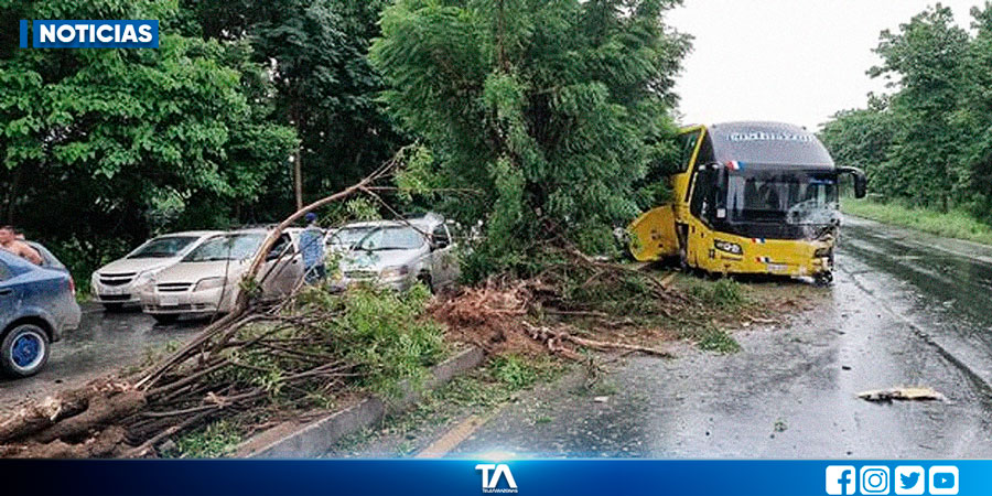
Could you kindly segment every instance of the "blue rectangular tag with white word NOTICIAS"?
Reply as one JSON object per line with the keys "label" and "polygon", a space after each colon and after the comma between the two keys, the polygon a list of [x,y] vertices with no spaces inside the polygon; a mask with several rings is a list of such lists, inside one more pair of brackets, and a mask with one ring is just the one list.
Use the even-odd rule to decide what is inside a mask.
{"label": "blue rectangular tag with white word NOTICIAS", "polygon": [[[28,21],[20,22],[21,47],[28,47]],[[34,48],[158,48],[157,20],[34,20]]]}

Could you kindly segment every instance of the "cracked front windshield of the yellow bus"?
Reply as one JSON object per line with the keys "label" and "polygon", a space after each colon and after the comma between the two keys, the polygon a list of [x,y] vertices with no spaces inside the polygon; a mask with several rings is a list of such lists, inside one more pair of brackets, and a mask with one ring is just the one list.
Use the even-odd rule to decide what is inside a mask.
{"label": "cracked front windshield of the yellow bus", "polygon": [[726,176],[725,205],[734,223],[830,224],[838,213],[837,174],[781,170],[733,171]]}

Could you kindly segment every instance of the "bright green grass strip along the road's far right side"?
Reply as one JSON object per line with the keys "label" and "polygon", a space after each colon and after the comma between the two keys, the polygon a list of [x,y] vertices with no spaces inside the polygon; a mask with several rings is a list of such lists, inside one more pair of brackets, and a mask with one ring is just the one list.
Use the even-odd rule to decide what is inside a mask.
{"label": "bright green grass strip along the road's far right side", "polygon": [[992,245],[992,226],[960,211],[942,213],[899,203],[878,203],[872,200],[854,198],[843,198],[841,211],[858,217],[909,227],[937,236]]}

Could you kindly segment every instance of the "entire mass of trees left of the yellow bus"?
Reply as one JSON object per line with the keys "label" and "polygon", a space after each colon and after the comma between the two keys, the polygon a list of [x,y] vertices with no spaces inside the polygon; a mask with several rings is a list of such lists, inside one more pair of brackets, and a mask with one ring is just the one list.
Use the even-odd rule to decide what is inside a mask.
{"label": "entire mass of trees left of the yellow bus", "polygon": [[[402,149],[392,200],[483,222],[486,270],[553,236],[603,249],[673,154],[678,3],[0,1],[0,220],[82,274],[281,219],[298,173],[314,200]],[[158,19],[161,47],[22,50],[20,19]]]}

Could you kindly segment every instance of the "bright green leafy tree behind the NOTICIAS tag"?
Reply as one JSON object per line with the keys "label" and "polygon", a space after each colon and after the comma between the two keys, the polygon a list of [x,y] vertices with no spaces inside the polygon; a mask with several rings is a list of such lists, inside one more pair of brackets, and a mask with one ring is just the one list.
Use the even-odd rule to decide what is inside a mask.
{"label": "bright green leafy tree behind the NOTICIAS tag", "polygon": [[2,50],[3,215],[68,261],[165,226],[230,222],[295,147],[267,120],[271,88],[250,46],[181,34],[173,2],[15,2],[0,17],[161,22],[159,50]]}

